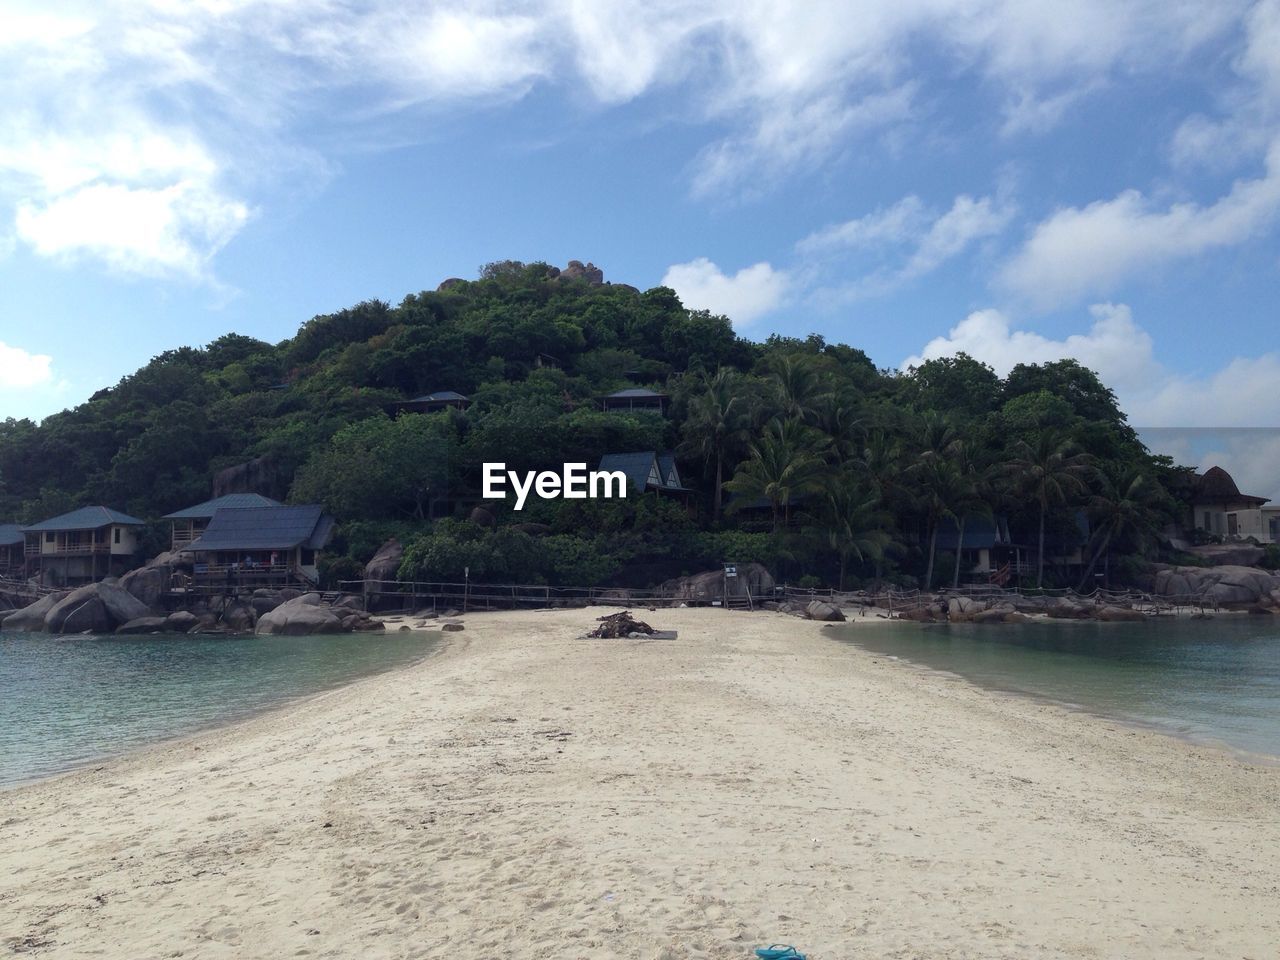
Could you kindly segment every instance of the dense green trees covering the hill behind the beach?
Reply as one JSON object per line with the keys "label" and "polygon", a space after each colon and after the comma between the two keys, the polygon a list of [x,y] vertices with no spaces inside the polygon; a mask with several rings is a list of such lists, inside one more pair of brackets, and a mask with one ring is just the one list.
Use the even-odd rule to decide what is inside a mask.
{"label": "dense green trees covering the hill behind the beach", "polygon": [[[600,394],[632,385],[667,393],[666,415],[600,410]],[[471,406],[397,416],[443,389]],[[646,494],[521,513],[486,503],[492,524],[470,518],[485,462],[594,467],[649,449],[677,451],[687,509]],[[1074,361],[1004,379],[965,355],[881,371],[815,335],[745,340],[667,288],[503,261],[396,307],[317,316],[278,344],[229,334],[169,351],[40,425],[0,422],[0,518],[83,503],[155,518],[253,458],[274,477],[262,493],[338,517],[330,579],[358,575],[396,535],[401,573],[417,579],[470,567],[489,581],[640,585],[762,561],[794,581],[937,585],[963,572],[938,531],[1001,516],[1037,544],[1037,579],[1062,584],[1053,557],[1074,548],[1075,576],[1156,549],[1189,483]]]}

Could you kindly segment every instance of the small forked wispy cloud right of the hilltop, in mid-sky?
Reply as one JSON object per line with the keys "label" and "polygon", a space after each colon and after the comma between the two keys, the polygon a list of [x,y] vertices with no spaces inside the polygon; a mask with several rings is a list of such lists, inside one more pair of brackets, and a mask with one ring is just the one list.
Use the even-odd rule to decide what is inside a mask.
{"label": "small forked wispy cloud right of the hilltop, in mid-sky", "polygon": [[796,250],[808,257],[836,257],[847,251],[888,253],[882,266],[851,283],[823,288],[819,298],[832,302],[883,296],[937,270],[977,241],[1001,233],[1014,216],[1011,205],[968,195],[955,198],[951,209],[936,214],[916,196],[854,220],[827,227],[805,237]]}

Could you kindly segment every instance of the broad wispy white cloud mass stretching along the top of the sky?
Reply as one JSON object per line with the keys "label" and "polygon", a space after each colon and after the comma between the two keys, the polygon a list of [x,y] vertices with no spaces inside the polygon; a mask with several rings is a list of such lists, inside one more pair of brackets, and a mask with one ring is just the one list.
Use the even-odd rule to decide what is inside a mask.
{"label": "broad wispy white cloud mass stretching along the top of the sky", "polygon": [[[61,211],[61,242],[22,234],[45,238],[37,251],[74,248],[116,269],[179,275],[207,269],[264,184],[314,177],[330,148],[317,145],[361,141],[360,124],[396,111],[503,102],[538,84],[603,105],[678,87],[676,119],[714,131],[692,159],[694,192],[764,189],[910,124],[940,63],[1010,104],[1006,133],[1041,129],[1112,76],[1166,73],[1240,15],[1235,0],[1212,9],[1192,0],[67,0],[50,9],[8,0],[0,12],[0,214],[24,210],[29,228],[40,211]],[[1268,36],[1271,9],[1254,14],[1256,36]],[[1272,70],[1262,40],[1240,69]],[[394,133],[416,129],[410,119]],[[92,214],[88,200],[106,196],[172,200],[159,218],[168,232],[116,248],[90,221],[73,237],[72,214]]]}

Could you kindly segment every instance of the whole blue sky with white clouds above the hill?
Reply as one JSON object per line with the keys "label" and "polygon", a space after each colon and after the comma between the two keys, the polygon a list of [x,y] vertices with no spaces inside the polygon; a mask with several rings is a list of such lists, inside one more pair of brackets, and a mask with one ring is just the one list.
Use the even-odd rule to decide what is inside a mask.
{"label": "whole blue sky with white clouds above the hill", "polygon": [[46,8],[0,0],[0,416],[512,257],[1280,424],[1277,0]]}

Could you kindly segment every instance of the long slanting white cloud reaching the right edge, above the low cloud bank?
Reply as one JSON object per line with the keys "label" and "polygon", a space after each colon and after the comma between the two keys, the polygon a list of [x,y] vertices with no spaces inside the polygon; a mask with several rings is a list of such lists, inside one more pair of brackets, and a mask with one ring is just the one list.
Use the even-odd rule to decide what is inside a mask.
{"label": "long slanting white cloud reaching the right edge, above the low cloud bank", "polygon": [[1032,230],[1000,280],[1037,306],[1055,306],[1107,293],[1139,270],[1243,243],[1277,215],[1280,141],[1271,146],[1262,177],[1236,180],[1210,206],[1156,209],[1130,189],[1083,209],[1059,210]]}

